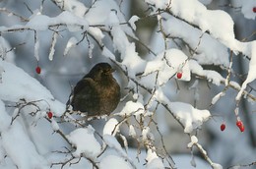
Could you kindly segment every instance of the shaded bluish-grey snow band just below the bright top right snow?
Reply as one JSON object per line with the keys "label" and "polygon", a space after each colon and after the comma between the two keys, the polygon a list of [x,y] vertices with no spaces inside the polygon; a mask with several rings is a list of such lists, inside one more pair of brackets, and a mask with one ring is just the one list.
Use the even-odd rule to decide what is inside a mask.
{"label": "shaded bluish-grey snow band just below the bright top right snow", "polygon": [[169,36],[183,39],[194,50],[197,48],[193,59],[196,59],[198,63],[228,66],[229,54],[224,44],[208,33],[204,33],[174,17],[163,17],[166,17],[167,20],[163,20],[162,26]]}

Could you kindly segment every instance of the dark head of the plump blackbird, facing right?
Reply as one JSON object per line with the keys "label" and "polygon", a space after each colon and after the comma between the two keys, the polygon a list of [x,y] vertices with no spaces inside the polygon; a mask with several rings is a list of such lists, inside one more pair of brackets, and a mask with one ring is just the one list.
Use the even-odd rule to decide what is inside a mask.
{"label": "dark head of the plump blackbird, facing right", "polygon": [[108,63],[98,63],[96,66],[90,71],[90,78],[95,81],[106,81],[112,79],[112,73],[114,69]]}

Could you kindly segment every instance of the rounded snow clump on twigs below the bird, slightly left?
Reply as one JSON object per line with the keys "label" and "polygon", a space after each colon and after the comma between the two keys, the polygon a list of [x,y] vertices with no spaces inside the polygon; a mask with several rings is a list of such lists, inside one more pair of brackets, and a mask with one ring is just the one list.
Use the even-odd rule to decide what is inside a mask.
{"label": "rounded snow clump on twigs below the bird, slightly left", "polygon": [[79,128],[67,135],[67,139],[76,146],[73,155],[80,157],[85,154],[87,157],[95,159],[99,154],[101,146],[94,136],[95,130],[89,126],[88,128]]}

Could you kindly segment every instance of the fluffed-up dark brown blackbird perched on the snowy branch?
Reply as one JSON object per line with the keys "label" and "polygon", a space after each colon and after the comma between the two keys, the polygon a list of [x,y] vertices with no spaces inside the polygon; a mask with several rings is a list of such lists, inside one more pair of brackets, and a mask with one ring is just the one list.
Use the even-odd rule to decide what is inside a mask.
{"label": "fluffed-up dark brown blackbird perched on the snowy branch", "polygon": [[109,115],[120,100],[120,86],[108,63],[98,63],[76,86],[67,105],[88,117]]}

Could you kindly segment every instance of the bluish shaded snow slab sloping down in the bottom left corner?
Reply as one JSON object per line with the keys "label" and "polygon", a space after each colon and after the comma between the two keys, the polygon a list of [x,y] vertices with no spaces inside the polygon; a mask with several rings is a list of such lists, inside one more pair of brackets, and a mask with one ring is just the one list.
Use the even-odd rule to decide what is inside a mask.
{"label": "bluish shaded snow slab sloping down in the bottom left corner", "polygon": [[48,168],[46,160],[37,152],[21,123],[16,121],[11,125],[11,117],[5,111],[4,103],[1,100],[0,110],[0,142],[13,163],[21,169]]}

